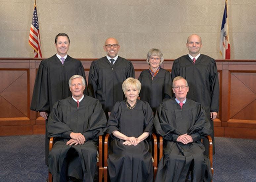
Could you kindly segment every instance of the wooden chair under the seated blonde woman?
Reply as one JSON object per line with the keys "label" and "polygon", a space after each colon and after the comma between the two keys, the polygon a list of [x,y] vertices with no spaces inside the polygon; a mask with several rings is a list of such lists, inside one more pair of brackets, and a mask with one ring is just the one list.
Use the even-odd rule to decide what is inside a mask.
{"label": "wooden chair under the seated blonde woman", "polygon": [[[103,167],[103,173],[104,173],[104,182],[107,182],[107,158],[108,158],[108,137],[110,135],[106,134],[105,140],[104,140],[104,167]],[[153,153],[152,156],[152,162],[153,162],[153,170],[154,170],[154,177],[156,175],[157,171],[157,137],[155,134],[152,134],[152,140],[153,140]]]}

